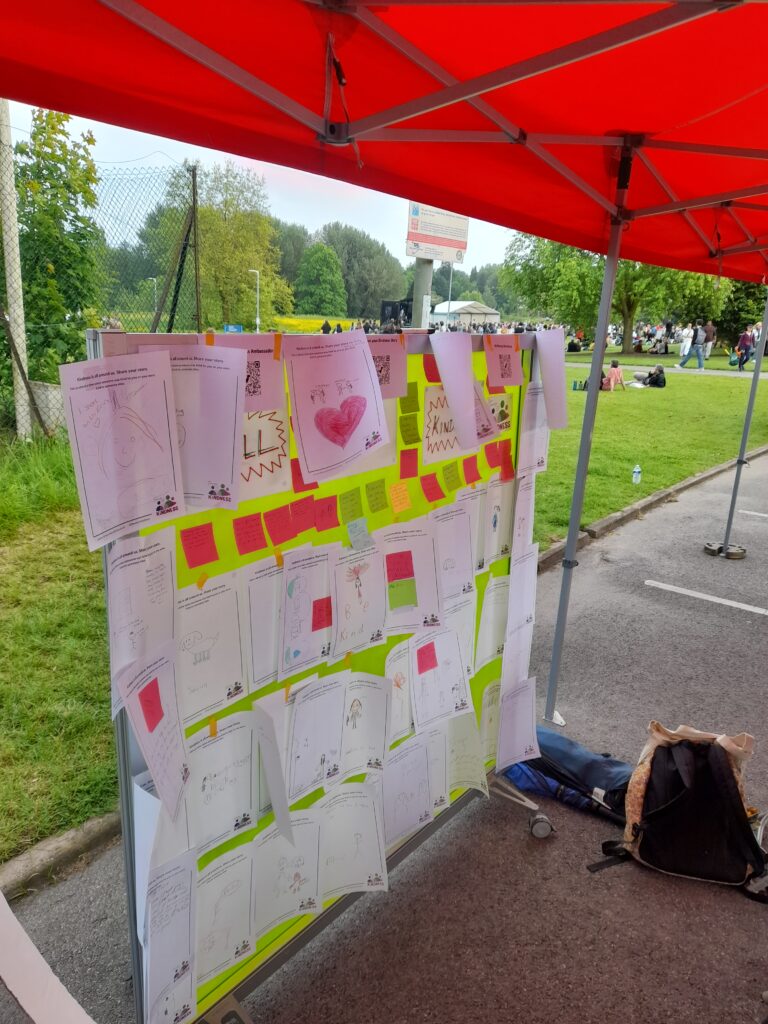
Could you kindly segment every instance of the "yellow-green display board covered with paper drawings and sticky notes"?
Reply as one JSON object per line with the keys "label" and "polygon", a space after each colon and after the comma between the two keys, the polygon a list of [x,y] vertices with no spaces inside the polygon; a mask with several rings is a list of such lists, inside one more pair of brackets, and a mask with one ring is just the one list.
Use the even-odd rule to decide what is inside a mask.
{"label": "yellow-green display board covered with paper drawings and sticky notes", "polygon": [[[105,358],[65,381],[89,541],[111,542],[150,1024],[204,1014],[335,900],[385,891],[385,857],[487,792],[505,640],[517,684],[532,628],[531,343],[100,332]],[[114,465],[96,515],[88,474]],[[534,572],[515,601],[511,559]]]}

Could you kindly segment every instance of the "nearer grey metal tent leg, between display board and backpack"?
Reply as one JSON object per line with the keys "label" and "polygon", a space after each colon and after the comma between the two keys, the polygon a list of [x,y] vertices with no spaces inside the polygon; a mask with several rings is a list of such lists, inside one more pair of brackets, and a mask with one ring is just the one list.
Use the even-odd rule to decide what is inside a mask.
{"label": "nearer grey metal tent leg, between display board and backpack", "polygon": [[562,645],[565,638],[565,625],[568,617],[571,575],[573,569],[579,564],[575,560],[577,544],[579,543],[579,531],[582,525],[584,492],[587,486],[587,470],[589,468],[590,451],[592,449],[592,431],[595,427],[597,400],[600,395],[601,371],[603,355],[605,354],[605,337],[608,333],[610,303],[613,298],[613,286],[616,280],[621,239],[622,222],[616,220],[611,224],[608,255],[605,258],[603,287],[600,294],[600,307],[597,313],[597,327],[595,329],[595,349],[592,355],[592,368],[590,370],[589,387],[587,390],[587,404],[584,410],[582,440],[579,445],[579,461],[577,463],[575,479],[573,481],[573,499],[570,505],[570,520],[568,521],[568,536],[565,541],[565,557],[562,562],[563,573],[562,584],[560,585],[560,603],[557,608],[555,639],[552,645],[552,662],[549,670],[547,708],[544,713],[544,717],[548,722],[552,722],[555,725],[565,724],[562,718],[555,711],[555,701],[557,700],[557,682],[560,675]]}

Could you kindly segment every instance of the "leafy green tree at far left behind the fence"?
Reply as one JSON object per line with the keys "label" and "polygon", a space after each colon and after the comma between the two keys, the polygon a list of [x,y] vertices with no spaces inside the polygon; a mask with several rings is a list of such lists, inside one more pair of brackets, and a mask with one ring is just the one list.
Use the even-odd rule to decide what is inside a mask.
{"label": "leafy green tree at far left behind the fence", "polygon": [[[83,332],[92,324],[97,254],[104,248],[91,215],[95,139],[90,132],[72,138],[70,121],[67,114],[35,110],[29,140],[15,145],[30,376],[53,382],[59,362],[85,357]],[[0,280],[4,293],[2,267]]]}

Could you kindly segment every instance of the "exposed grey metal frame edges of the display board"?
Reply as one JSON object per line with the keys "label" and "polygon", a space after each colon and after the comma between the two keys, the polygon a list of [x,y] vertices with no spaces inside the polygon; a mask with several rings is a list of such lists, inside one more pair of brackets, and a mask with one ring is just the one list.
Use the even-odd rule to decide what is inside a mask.
{"label": "exposed grey metal frame edges of the display board", "polygon": [[[100,358],[103,354],[102,336],[123,334],[119,331],[101,331],[90,329],[86,331],[86,351],[89,359]],[[432,352],[432,345],[429,335],[419,331],[414,333],[406,332],[407,351],[409,355],[424,355]],[[521,336],[520,347],[532,349],[532,335]],[[472,335],[472,350],[480,352],[483,350],[482,335]],[[534,349],[535,351],[535,349]],[[532,367],[531,367],[532,371]],[[516,481],[517,484],[517,481]],[[104,594],[106,595],[106,551],[104,549],[102,558],[104,565]],[[109,600],[108,600],[109,607]],[[143,1024],[143,951],[136,932],[136,885],[135,885],[135,828],[133,818],[133,778],[144,770],[145,765],[139,751],[138,744],[131,732],[128,716],[124,709],[121,709],[115,718],[115,746],[117,751],[118,763],[118,785],[120,793],[120,817],[123,829],[123,862],[125,866],[126,899],[128,902],[128,927],[129,942],[131,950],[131,967],[133,971],[133,1000],[136,1013],[136,1021]],[[489,775],[493,775],[493,771]],[[465,791],[457,800],[445,808],[444,811],[434,820],[428,822],[419,831],[415,833],[387,857],[387,870],[391,870],[401,863],[406,857],[414,853],[426,840],[430,839],[438,828],[451,821],[461,810],[479,796],[474,790]],[[530,807],[530,801],[520,795],[520,804],[523,807]],[[233,995],[242,1000],[253,992],[270,975],[274,974],[286,964],[291,956],[302,949],[311,939],[319,934],[325,928],[332,924],[344,910],[348,909],[364,893],[350,893],[339,897],[330,907],[323,910],[308,925],[289,939],[284,945],[276,949],[243,981],[239,982],[227,992],[224,992],[220,999]],[[206,1011],[202,1016],[205,1017]],[[196,1018],[199,1019],[199,1018]]]}

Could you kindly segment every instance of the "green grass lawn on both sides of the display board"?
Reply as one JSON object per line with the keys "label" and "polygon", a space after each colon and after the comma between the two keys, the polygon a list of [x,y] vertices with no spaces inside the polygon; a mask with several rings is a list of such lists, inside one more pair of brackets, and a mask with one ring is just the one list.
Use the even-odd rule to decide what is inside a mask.
{"label": "green grass lawn on both sides of the display board", "polygon": [[[568,387],[584,376],[568,368]],[[664,391],[601,394],[583,522],[732,458],[746,393],[743,380],[670,374]],[[537,481],[543,547],[567,528],[585,399],[568,390],[570,426],[553,433]],[[766,441],[761,401],[751,446]],[[85,543],[67,445],[0,438],[0,494],[2,861],[113,809],[117,781],[101,558]]]}

